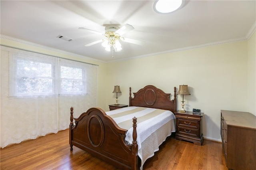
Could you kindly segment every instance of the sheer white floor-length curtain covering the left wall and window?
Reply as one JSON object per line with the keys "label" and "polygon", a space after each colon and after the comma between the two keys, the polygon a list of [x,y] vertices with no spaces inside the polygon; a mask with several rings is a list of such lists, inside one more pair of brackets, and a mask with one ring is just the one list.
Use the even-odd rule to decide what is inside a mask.
{"label": "sheer white floor-length curtain covering the left wall and window", "polygon": [[0,63],[2,148],[68,128],[70,107],[74,117],[96,107],[96,65],[2,45]]}

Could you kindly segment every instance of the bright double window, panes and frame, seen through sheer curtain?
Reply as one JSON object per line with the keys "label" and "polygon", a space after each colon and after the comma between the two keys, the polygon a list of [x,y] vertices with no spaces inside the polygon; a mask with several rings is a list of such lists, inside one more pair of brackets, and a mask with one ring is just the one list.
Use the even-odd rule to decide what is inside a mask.
{"label": "bright double window, panes and frame, seen through sheer curtain", "polygon": [[[41,55],[41,54],[40,54]],[[13,53],[11,96],[85,95],[90,64],[48,55]]]}

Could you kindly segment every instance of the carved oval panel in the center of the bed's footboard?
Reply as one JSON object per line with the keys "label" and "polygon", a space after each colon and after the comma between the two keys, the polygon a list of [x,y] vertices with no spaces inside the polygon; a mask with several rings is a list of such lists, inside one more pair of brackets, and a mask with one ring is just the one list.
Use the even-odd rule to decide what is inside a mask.
{"label": "carved oval panel in the center of the bed's footboard", "polygon": [[104,141],[104,127],[98,115],[90,117],[87,128],[88,138],[94,147],[99,147]]}

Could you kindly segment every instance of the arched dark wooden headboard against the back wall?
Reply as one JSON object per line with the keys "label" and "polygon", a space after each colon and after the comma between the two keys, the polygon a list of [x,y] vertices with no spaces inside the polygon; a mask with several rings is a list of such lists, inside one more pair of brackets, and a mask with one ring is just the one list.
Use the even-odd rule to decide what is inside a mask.
{"label": "arched dark wooden headboard against the back wall", "polygon": [[174,87],[174,99],[170,100],[170,93],[164,93],[153,85],[147,85],[138,92],[133,93],[130,87],[129,105],[138,107],[150,107],[176,112],[176,87]]}

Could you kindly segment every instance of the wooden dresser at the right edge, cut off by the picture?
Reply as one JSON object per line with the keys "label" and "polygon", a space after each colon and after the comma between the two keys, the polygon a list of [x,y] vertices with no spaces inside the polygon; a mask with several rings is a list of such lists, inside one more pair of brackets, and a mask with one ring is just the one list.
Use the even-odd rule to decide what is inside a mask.
{"label": "wooden dresser at the right edge, cut off by the picture", "polygon": [[220,133],[227,167],[256,169],[256,117],[248,112],[221,110]]}

